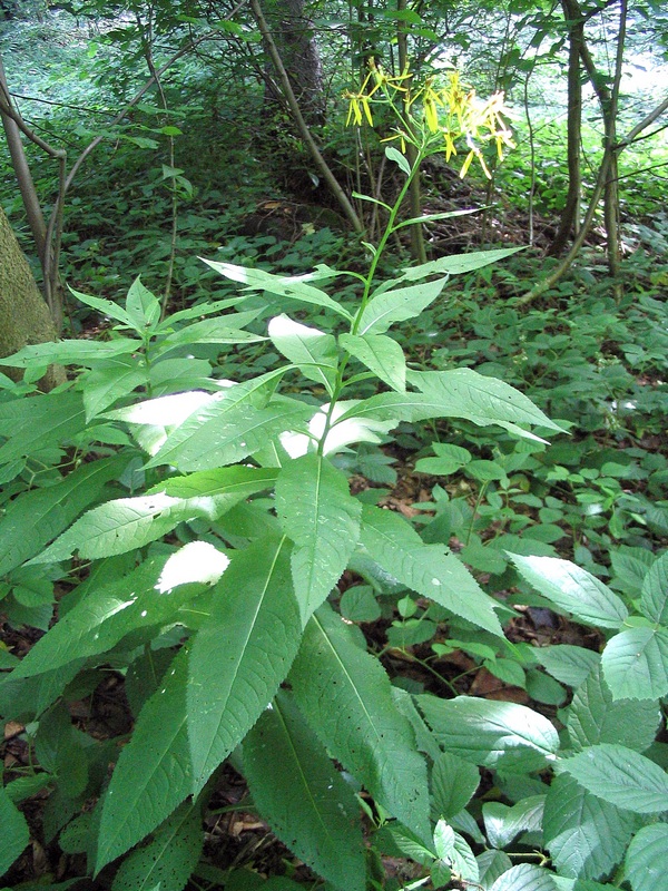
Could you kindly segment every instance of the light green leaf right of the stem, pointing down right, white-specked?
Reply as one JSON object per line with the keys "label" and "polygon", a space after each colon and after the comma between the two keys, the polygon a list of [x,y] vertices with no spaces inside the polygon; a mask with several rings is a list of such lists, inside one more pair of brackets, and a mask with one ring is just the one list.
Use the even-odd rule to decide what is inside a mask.
{"label": "light green leaf right of the stem, pointing down right, white-specked", "polygon": [[403,585],[480,628],[503,635],[494,600],[463,564],[442,545],[425,545],[399,515],[365,506],[360,537],[370,557]]}

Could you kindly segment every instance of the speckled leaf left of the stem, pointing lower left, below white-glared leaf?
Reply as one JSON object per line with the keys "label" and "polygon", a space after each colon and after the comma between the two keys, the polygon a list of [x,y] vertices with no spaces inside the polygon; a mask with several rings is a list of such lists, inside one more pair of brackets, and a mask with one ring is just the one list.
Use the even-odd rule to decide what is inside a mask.
{"label": "speckled leaf left of the stem, pointing lower left, below white-glared leaf", "polygon": [[180,470],[208,470],[233,464],[311,417],[313,409],[296,400],[267,405],[277,375],[263,379],[216,393],[168,434],[147,467],[169,463]]}

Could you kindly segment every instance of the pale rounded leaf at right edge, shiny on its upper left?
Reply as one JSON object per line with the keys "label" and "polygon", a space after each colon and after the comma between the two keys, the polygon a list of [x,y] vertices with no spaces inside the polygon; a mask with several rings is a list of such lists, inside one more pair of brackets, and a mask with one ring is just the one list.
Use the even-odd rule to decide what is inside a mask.
{"label": "pale rounded leaf at right edge, shiny on its upper left", "polygon": [[615,635],[601,656],[615,699],[660,699],[668,694],[668,628],[639,626]]}

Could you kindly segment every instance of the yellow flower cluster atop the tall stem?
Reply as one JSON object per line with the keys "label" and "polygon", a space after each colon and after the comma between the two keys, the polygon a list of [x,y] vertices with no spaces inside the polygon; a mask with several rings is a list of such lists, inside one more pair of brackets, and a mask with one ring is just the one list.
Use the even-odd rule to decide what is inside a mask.
{"label": "yellow flower cluster atop the tall stem", "polygon": [[463,139],[469,151],[460,176],[463,178],[473,159],[478,158],[485,176],[491,178],[482,146],[493,140],[500,159],[504,147],[514,147],[503,119],[508,115],[503,94],[495,92],[487,100],[480,99],[475,90],[462,84],[458,71],[449,72],[445,87],[435,86],[434,77],[428,77],[416,90],[412,87],[412,75],[407,70],[399,76],[389,75],[371,59],[369,74],[358,92],[344,94],[348,100],[346,126],[361,127],[366,121],[373,127],[372,105],[389,105],[399,124],[395,135],[389,139],[400,139],[402,150],[405,150],[406,141],[420,147],[430,145],[433,137],[439,141],[442,137],[445,158],[450,160],[458,154],[456,143]]}

